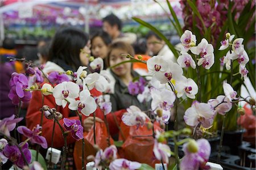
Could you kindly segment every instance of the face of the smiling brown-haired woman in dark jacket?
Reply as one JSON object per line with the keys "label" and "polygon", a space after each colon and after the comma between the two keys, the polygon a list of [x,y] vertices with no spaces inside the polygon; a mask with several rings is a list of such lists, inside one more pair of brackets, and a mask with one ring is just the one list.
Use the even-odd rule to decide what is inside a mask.
{"label": "face of the smiling brown-haired woman in dark jacket", "polygon": [[[126,57],[123,57],[122,55],[127,55],[127,51],[125,51],[123,49],[118,49],[118,48],[113,49],[109,55],[110,67],[115,64],[121,63],[122,61],[130,60],[130,59],[127,59]],[[125,64],[118,65],[117,67],[112,68],[112,71],[115,74],[117,74],[117,76],[123,77],[126,74],[131,73],[131,63],[125,63]]]}

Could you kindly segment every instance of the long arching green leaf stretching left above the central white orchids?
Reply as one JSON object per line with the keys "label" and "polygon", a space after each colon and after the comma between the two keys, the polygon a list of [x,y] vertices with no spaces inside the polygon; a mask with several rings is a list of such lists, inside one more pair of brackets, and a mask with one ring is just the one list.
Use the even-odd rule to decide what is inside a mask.
{"label": "long arching green leaf stretching left above the central white orchids", "polygon": [[133,20],[135,20],[136,22],[142,24],[143,26],[150,28],[150,30],[154,31],[155,34],[157,34],[162,40],[164,40],[164,42],[166,42],[166,44],[168,45],[168,47],[171,49],[172,53],[174,53],[174,56],[177,58],[179,57],[179,53],[177,53],[176,49],[174,48],[174,45],[172,45],[169,40],[166,38],[166,36],[164,36],[160,31],[158,31],[158,29],[156,29],[154,26],[152,26],[150,23],[144,22],[143,20],[139,19],[139,18],[135,18],[133,17]]}

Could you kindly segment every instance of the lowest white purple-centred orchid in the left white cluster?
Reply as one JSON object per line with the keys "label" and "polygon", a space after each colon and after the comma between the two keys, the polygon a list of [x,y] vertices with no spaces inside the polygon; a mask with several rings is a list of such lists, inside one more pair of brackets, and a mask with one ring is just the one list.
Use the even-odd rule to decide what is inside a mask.
{"label": "lowest white purple-centred orchid in the left white cluster", "polygon": [[80,92],[79,100],[69,103],[68,108],[71,110],[78,110],[82,114],[89,116],[96,110],[97,105],[95,99],[90,96],[89,90],[85,89]]}

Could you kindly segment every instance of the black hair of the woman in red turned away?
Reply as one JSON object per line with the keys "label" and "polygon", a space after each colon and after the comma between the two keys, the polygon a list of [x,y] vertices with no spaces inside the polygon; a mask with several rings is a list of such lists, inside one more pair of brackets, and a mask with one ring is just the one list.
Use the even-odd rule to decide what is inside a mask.
{"label": "black hair of the woman in red turned away", "polygon": [[81,65],[80,52],[88,43],[88,35],[73,27],[64,27],[56,32],[49,49],[49,61],[60,60],[73,69]]}

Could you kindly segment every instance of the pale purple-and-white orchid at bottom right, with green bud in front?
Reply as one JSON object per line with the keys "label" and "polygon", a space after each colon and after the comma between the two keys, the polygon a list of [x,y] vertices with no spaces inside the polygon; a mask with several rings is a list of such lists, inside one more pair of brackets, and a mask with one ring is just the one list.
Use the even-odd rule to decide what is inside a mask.
{"label": "pale purple-and-white orchid at bottom right, with green bud in front", "polygon": [[183,144],[183,151],[185,156],[181,160],[180,170],[210,168],[209,166],[205,165],[210,157],[210,143],[208,140],[199,139],[195,142],[195,146],[185,143]]}

